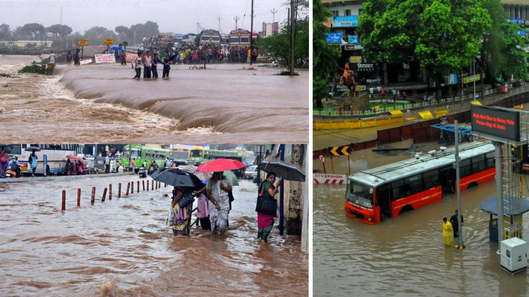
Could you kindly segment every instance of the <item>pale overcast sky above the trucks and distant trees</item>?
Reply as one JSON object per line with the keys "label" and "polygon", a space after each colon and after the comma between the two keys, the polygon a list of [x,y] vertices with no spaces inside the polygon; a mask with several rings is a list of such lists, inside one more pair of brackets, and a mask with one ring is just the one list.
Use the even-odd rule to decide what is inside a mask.
{"label": "pale overcast sky above the trucks and distant trees", "polygon": [[[262,22],[271,23],[287,18],[285,0],[254,0],[254,32],[261,31]],[[196,33],[197,22],[204,28],[218,30],[217,17],[222,17],[221,30],[235,28],[233,18],[239,16],[239,27],[250,30],[251,0],[0,0],[0,23],[14,29],[26,23],[42,23],[48,27],[60,23],[83,33],[93,26],[114,30],[118,25],[153,21],[160,32]],[[244,13],[246,16],[244,17]]]}

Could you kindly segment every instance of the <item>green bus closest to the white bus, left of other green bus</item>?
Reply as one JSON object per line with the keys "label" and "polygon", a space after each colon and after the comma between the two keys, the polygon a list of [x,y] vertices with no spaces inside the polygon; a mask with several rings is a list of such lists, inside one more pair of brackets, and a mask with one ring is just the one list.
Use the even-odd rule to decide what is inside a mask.
{"label": "green bus closest to the white bus, left of other green bus", "polygon": [[149,166],[151,160],[154,160],[158,166],[162,167],[163,162],[170,156],[171,151],[168,149],[151,148],[142,145],[126,145],[121,158],[121,165],[123,165],[123,168],[129,168],[129,160],[135,159],[136,169],[143,162],[147,162],[147,166]]}

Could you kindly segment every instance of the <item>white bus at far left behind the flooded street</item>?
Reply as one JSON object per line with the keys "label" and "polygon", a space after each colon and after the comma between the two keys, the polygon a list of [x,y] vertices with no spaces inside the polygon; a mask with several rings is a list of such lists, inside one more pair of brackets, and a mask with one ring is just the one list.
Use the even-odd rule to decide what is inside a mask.
{"label": "white bus at far left behind the flooded street", "polygon": [[77,156],[84,153],[84,145],[12,145],[13,148],[9,155],[19,158],[22,174],[32,173],[31,166],[28,164],[31,151],[25,151],[30,146],[41,149],[35,152],[38,158],[35,174],[44,176],[65,173],[66,156]]}

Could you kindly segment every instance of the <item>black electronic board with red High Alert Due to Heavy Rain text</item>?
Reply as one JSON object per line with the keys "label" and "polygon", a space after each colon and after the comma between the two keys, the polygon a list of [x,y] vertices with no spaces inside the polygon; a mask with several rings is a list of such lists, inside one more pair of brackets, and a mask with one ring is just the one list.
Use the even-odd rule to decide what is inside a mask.
{"label": "black electronic board with red High Alert Due to Heavy Rain text", "polygon": [[520,112],[488,106],[470,106],[472,131],[487,137],[520,141]]}

